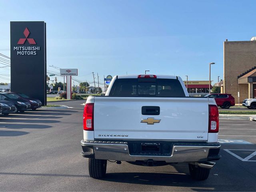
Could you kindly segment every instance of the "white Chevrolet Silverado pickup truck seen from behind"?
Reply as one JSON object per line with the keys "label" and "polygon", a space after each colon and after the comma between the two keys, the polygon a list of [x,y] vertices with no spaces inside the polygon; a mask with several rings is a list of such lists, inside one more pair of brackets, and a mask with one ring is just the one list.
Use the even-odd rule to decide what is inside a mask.
{"label": "white Chevrolet Silverado pickup truck seen from behind", "polygon": [[83,152],[92,178],[107,160],[142,166],[186,162],[205,180],[219,160],[219,114],[214,98],[189,97],[178,76],[114,76],[105,96],[84,106]]}

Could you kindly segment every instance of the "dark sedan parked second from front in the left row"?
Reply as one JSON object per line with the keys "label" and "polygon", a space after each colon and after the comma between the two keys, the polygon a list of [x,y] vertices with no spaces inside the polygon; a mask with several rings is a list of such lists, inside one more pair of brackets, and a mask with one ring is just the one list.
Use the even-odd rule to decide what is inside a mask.
{"label": "dark sedan parked second from front in the left row", "polygon": [[4,97],[4,100],[12,102],[19,112],[24,112],[31,108],[30,103],[22,98],[16,98],[12,94],[6,92],[0,92],[0,95]]}

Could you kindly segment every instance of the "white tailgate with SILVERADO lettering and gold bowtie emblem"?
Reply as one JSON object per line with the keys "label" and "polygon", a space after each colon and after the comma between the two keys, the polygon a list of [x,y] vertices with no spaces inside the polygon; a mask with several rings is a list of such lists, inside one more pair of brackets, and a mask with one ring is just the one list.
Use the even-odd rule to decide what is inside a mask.
{"label": "white tailgate with SILVERADO lettering and gold bowtie emblem", "polygon": [[[159,107],[160,114],[142,115],[142,106]],[[202,141],[208,116],[208,98],[95,97],[94,138]],[[152,118],[160,122],[148,124]]]}

